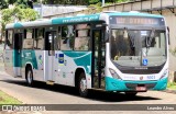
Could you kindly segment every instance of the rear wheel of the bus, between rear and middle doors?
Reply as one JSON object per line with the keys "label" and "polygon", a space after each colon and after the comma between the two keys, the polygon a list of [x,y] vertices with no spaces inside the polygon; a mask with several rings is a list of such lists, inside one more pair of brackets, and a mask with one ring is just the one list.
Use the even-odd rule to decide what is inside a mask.
{"label": "rear wheel of the bus, between rear and middle doors", "polygon": [[26,83],[30,86],[30,87],[32,87],[33,84],[34,84],[34,80],[33,80],[33,72],[32,72],[32,68],[31,67],[29,67],[28,69],[26,69]]}

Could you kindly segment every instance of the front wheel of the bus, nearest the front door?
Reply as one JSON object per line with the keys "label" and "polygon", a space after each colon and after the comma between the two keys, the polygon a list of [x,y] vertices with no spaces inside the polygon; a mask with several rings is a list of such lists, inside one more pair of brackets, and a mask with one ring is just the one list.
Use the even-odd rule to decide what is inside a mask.
{"label": "front wheel of the bus, nearest the front door", "polygon": [[88,89],[87,89],[87,81],[86,81],[85,72],[81,72],[80,76],[79,76],[78,89],[79,89],[80,96],[87,96],[88,95]]}

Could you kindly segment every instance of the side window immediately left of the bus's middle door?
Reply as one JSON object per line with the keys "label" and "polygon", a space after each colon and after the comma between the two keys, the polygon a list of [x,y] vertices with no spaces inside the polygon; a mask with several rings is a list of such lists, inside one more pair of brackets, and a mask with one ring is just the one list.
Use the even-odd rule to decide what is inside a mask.
{"label": "side window immediately left of the bus's middle door", "polygon": [[44,29],[35,30],[35,39],[34,39],[34,48],[43,49],[44,46]]}

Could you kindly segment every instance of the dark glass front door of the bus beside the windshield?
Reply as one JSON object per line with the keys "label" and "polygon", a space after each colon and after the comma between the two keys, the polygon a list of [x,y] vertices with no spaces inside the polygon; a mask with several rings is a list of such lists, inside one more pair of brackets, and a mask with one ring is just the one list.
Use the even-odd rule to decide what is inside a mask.
{"label": "dark glass front door of the bus beside the windshield", "polygon": [[105,30],[92,30],[92,87],[105,89]]}

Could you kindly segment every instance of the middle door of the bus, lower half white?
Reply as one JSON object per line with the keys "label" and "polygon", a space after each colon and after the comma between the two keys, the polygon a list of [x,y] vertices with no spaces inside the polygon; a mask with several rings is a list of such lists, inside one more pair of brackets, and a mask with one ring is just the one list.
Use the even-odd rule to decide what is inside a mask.
{"label": "middle door of the bus, lower half white", "polygon": [[47,84],[54,84],[54,38],[56,36],[56,32],[46,32],[45,33],[45,62],[44,62],[44,76]]}

